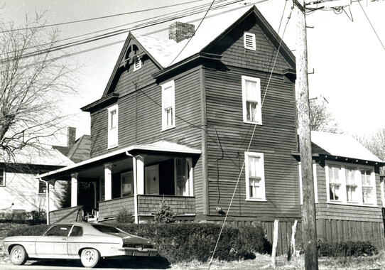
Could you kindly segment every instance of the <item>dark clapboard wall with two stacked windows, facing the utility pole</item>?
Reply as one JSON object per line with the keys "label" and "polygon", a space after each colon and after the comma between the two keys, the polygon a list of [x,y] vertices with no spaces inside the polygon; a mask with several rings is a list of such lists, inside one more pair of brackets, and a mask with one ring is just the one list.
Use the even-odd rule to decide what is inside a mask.
{"label": "dark clapboard wall with two stacked windows, facing the utility pole", "polygon": [[[264,97],[269,75],[233,68],[227,72],[205,70],[207,97],[207,149],[209,170],[210,214],[218,206],[226,211],[244,162],[254,124],[245,124],[242,114],[242,75],[261,79]],[[294,92],[282,75],[273,75],[262,107],[263,125],[257,125],[249,151],[264,153],[266,202],[246,200],[242,172],[232,203],[231,215],[299,217],[297,162],[291,155],[296,149]],[[219,193],[217,184],[218,161]]]}

